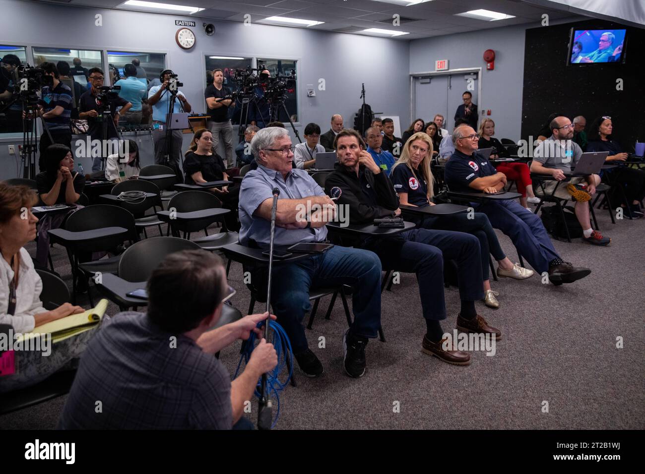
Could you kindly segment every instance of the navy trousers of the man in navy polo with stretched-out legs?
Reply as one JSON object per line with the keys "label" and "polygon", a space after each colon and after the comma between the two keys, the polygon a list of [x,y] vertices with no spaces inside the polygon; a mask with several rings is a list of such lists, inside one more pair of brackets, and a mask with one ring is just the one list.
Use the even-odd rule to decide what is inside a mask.
{"label": "navy trousers of the man in navy polo with stretched-out legs", "polygon": [[510,237],[517,251],[536,272],[548,272],[549,262],[560,257],[542,220],[517,201],[485,201],[475,209],[486,214],[494,228]]}

